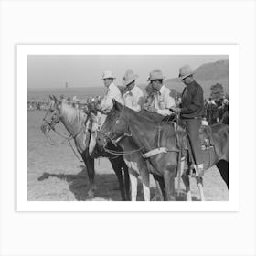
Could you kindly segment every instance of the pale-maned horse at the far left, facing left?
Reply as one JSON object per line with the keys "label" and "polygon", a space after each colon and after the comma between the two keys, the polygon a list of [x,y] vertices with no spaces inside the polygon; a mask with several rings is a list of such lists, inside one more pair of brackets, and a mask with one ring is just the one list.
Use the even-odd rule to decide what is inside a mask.
{"label": "pale-maned horse at the far left, facing left", "polygon": [[[59,101],[55,96],[49,96],[49,98],[50,102],[48,111],[43,119],[44,123],[41,125],[41,130],[43,133],[48,133],[50,130],[58,133],[55,130],[55,125],[59,122],[63,123],[70,134],[67,140],[74,139],[77,151],[80,153],[81,158],[86,165],[90,181],[88,196],[94,197],[96,190],[94,182],[94,158],[91,157],[90,152],[92,152],[95,144],[93,144],[93,140],[91,140],[91,113],[82,112],[80,109],[75,109],[64,101]],[[49,113],[51,114],[49,115]],[[59,133],[59,135],[61,134]],[[108,154],[106,157],[109,157],[112,168],[118,178],[122,200],[129,200],[129,173],[128,168],[123,161],[123,156],[116,157],[116,155]]]}

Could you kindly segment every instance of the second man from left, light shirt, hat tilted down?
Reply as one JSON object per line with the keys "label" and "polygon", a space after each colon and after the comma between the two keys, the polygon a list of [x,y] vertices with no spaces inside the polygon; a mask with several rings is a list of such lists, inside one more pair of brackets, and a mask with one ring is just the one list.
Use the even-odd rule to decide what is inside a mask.
{"label": "second man from left, light shirt, hat tilted down", "polygon": [[133,70],[128,69],[123,76],[123,104],[124,106],[139,112],[144,106],[144,92],[135,84],[138,75],[133,73]]}

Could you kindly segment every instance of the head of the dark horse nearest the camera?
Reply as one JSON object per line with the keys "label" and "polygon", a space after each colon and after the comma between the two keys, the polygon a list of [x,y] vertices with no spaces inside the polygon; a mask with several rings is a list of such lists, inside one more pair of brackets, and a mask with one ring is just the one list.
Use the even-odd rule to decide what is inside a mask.
{"label": "head of the dark horse nearest the camera", "polygon": [[112,103],[112,110],[107,114],[97,135],[97,143],[101,147],[105,147],[109,142],[116,144],[129,134],[129,117],[125,116],[123,105],[115,100],[112,100]]}

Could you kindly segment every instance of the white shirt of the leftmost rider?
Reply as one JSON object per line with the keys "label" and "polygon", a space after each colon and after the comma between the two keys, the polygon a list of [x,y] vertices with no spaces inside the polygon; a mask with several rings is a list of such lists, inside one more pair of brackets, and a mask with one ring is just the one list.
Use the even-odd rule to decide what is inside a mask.
{"label": "white shirt of the leftmost rider", "polygon": [[103,97],[102,101],[101,101],[101,109],[103,112],[110,112],[112,109],[112,99],[114,99],[115,101],[120,102],[121,104],[123,104],[123,100],[122,100],[122,96],[121,96],[121,92],[119,90],[119,88],[112,83],[105,96]]}

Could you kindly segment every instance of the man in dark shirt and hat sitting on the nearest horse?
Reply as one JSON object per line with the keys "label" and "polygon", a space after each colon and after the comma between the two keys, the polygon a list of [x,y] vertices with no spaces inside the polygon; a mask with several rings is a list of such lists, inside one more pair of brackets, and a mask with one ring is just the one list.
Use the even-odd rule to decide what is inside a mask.
{"label": "man in dark shirt and hat sitting on the nearest horse", "polygon": [[204,114],[204,92],[194,79],[193,74],[194,72],[188,65],[179,69],[179,78],[186,87],[182,92],[181,108],[175,107],[173,109],[180,112],[180,119],[187,124],[187,136],[197,165],[197,172],[198,175],[202,175],[204,158],[199,140],[199,128]]}

